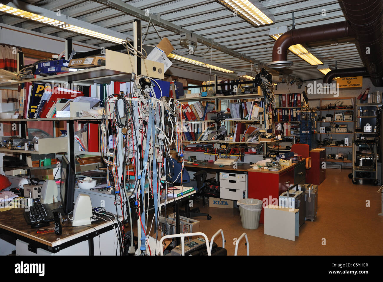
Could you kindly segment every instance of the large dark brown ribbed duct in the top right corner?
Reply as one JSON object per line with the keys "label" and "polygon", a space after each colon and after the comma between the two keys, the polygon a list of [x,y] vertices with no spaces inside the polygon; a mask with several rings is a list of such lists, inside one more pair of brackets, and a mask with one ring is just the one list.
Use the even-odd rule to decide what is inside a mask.
{"label": "large dark brown ribbed duct in the top right corner", "polygon": [[383,86],[383,1],[340,0],[360,57],[374,86]]}

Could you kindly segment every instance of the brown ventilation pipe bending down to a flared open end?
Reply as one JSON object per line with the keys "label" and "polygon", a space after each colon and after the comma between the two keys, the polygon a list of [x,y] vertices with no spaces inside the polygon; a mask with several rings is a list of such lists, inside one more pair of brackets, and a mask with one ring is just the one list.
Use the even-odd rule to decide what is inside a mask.
{"label": "brown ventilation pipe bending down to a flared open end", "polygon": [[267,66],[283,69],[293,65],[293,62],[287,60],[287,51],[291,45],[354,36],[355,34],[347,21],[290,30],[282,34],[275,42],[273,62],[268,63]]}

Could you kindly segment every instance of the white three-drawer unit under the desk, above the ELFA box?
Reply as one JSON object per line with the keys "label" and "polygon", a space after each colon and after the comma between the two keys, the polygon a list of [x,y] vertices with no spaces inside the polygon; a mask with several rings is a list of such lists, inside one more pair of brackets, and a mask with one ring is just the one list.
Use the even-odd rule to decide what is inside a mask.
{"label": "white three-drawer unit under the desk, above the ELFA box", "polygon": [[220,172],[219,187],[222,199],[237,201],[247,198],[247,174]]}

